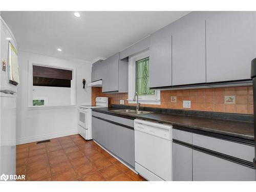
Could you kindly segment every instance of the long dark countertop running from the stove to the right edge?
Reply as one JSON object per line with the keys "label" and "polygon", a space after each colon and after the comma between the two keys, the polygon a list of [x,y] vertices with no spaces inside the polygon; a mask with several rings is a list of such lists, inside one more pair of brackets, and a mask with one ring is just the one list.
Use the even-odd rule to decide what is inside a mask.
{"label": "long dark countertop running from the stove to the right edge", "polygon": [[114,112],[117,108],[93,108],[95,112],[107,113],[126,118],[138,118],[151,120],[176,126],[182,126],[194,130],[216,133],[241,139],[254,140],[254,127],[251,122],[196,117],[187,115],[175,115],[166,113],[129,114]]}

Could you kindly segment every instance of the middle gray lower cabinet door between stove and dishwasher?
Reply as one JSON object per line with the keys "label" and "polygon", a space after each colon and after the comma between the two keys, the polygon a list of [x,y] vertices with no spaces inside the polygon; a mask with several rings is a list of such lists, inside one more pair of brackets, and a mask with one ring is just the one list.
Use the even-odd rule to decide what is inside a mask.
{"label": "middle gray lower cabinet door between stove and dishwasher", "polygon": [[106,148],[111,151],[113,154],[118,156],[118,131],[120,126],[116,124],[112,124],[109,122],[105,122],[106,126]]}

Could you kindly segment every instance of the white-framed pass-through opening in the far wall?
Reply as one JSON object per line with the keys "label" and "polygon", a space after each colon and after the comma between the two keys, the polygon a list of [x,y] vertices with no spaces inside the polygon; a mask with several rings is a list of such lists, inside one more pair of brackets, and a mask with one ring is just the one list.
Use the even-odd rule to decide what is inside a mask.
{"label": "white-framed pass-through opening in the far wall", "polygon": [[29,97],[31,109],[74,106],[75,68],[29,62]]}

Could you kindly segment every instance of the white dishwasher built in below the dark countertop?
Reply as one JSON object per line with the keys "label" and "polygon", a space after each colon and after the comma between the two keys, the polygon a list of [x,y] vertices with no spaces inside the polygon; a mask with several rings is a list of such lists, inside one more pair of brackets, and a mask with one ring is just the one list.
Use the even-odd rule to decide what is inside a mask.
{"label": "white dishwasher built in below the dark countertop", "polygon": [[149,181],[172,181],[172,128],[134,120],[135,170]]}

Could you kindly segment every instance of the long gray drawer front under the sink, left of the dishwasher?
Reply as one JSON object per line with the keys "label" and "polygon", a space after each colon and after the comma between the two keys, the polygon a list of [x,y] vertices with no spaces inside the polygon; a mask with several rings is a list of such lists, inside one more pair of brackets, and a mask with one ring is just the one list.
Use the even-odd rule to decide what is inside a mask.
{"label": "long gray drawer front under the sink, left of the dishwasher", "polygon": [[117,117],[117,116],[114,116],[114,115],[108,115],[108,114],[99,113],[99,112],[94,112],[94,111],[92,112],[92,115],[96,116],[96,117],[106,119],[106,120],[114,121],[116,123],[120,123],[120,124],[123,124],[123,125],[134,127],[134,122],[133,122],[132,119],[126,119],[126,118]]}

